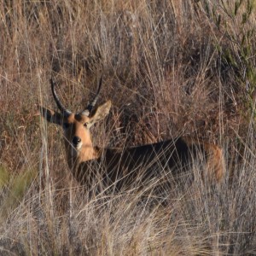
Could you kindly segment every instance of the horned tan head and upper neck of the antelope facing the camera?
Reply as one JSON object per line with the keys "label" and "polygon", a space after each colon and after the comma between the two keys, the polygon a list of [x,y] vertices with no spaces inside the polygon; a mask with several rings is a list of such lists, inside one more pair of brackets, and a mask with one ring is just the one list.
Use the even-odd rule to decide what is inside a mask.
{"label": "horned tan head and upper neck of the antelope facing the camera", "polygon": [[108,101],[98,108],[95,108],[102,86],[102,79],[100,80],[98,90],[93,101],[79,113],[72,113],[67,108],[64,108],[55,92],[55,82],[52,79],[50,80],[50,84],[52,94],[60,112],[54,112],[43,107],[40,107],[40,112],[49,122],[63,127],[69,167],[72,168],[73,163],[75,162],[80,163],[96,159],[98,157],[98,152],[92,144],[90,127],[97,121],[105,118],[111,107],[111,102]]}

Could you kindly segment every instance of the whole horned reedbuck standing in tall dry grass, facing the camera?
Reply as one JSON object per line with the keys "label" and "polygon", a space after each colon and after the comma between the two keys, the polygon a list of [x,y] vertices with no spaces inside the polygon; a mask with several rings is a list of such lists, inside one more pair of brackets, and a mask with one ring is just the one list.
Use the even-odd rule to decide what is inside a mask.
{"label": "whole horned reedbuck standing in tall dry grass, facing the camera", "polygon": [[[51,90],[60,113],[40,107],[40,112],[49,122],[61,125],[67,163],[79,183],[90,188],[95,180],[101,180],[115,189],[127,188],[132,183],[145,184],[160,173],[171,173],[174,177],[188,171],[193,160],[203,160],[202,177],[221,181],[224,174],[222,150],[211,143],[203,143],[189,137],[177,137],[160,143],[131,148],[95,147],[90,137],[90,127],[104,119],[111,102],[95,108],[102,85],[100,80],[94,100],[79,113],[64,108],[55,92],[55,82],[51,79]],[[142,171],[143,170],[143,171]],[[143,174],[142,174],[143,172]]]}

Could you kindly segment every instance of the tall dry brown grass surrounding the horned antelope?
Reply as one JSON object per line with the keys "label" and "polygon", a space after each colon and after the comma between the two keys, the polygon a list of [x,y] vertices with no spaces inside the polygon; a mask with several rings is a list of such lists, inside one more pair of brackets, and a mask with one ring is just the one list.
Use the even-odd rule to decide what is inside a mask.
{"label": "tall dry brown grass surrounding the horned antelope", "polygon": [[[256,3],[3,1],[0,4],[0,251],[3,255],[256,254]],[[81,110],[103,76],[100,146],[186,135],[224,148],[218,187],[97,195],[71,177],[61,130],[37,114]],[[195,170],[197,168],[195,166]]]}

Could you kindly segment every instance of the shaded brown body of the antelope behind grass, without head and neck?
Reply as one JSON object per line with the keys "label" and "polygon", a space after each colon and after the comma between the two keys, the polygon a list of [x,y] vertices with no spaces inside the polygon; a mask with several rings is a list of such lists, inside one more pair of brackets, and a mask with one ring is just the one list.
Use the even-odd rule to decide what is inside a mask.
{"label": "shaded brown body of the antelope behind grass, without head and neck", "polygon": [[[93,181],[116,189],[147,186],[147,183],[191,183],[192,167],[200,168],[203,180],[219,183],[224,176],[223,154],[218,146],[177,137],[160,143],[131,148],[102,148],[101,157],[82,162],[75,176],[89,187]],[[95,173],[95,170],[97,173]],[[102,172],[102,173],[99,173]],[[100,178],[98,178],[99,176]]]}

